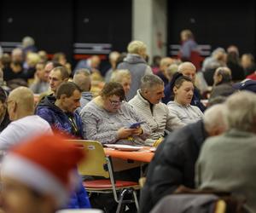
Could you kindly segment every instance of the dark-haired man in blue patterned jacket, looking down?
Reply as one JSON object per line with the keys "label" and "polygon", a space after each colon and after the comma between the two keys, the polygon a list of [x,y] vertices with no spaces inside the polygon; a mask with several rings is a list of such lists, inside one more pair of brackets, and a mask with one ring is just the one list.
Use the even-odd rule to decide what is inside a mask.
{"label": "dark-haired man in blue patterned jacket, looking down", "polygon": [[56,96],[38,104],[37,114],[54,130],[83,138],[82,120],[75,110],[80,107],[81,90],[73,82],[62,83]]}

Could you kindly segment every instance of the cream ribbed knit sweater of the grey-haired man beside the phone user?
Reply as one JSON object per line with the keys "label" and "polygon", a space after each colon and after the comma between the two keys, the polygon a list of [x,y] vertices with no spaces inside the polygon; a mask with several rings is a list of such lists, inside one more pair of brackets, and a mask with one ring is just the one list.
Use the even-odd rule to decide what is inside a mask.
{"label": "cream ribbed knit sweater of the grey-haired man beside the phone user", "polygon": [[129,104],[146,120],[151,128],[152,133],[145,141],[149,146],[152,146],[154,141],[163,137],[165,130],[172,131],[184,125],[169,112],[164,103],[154,104],[153,112],[151,112],[150,104],[140,94],[140,89],[137,90],[137,95],[129,101]]}

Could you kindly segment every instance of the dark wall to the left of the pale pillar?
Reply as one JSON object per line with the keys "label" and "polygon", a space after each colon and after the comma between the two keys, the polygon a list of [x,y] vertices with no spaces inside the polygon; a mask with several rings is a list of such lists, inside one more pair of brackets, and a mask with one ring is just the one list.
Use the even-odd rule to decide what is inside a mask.
{"label": "dark wall to the left of the pale pillar", "polygon": [[110,43],[110,50],[125,51],[131,41],[131,0],[2,0],[0,18],[1,42],[31,36],[38,49],[62,51],[69,60],[73,43]]}

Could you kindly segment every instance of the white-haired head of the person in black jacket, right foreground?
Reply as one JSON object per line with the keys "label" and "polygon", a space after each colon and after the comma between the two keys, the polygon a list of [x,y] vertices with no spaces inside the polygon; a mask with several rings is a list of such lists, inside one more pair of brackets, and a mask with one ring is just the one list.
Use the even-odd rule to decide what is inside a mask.
{"label": "white-haired head of the person in black jacket, right foreground", "polygon": [[225,121],[226,107],[224,104],[215,104],[212,107],[207,108],[204,112],[204,125],[209,135],[215,135],[215,131],[218,133],[227,130],[227,124]]}

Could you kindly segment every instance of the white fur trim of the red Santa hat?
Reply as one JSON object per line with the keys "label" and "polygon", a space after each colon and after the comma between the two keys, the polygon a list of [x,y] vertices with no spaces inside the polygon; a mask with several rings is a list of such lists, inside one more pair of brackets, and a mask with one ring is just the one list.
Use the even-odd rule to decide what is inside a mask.
{"label": "white fur trim of the red Santa hat", "polygon": [[67,187],[44,167],[22,158],[20,155],[9,153],[3,158],[1,175],[20,181],[39,193],[52,195],[58,206],[67,204]]}

